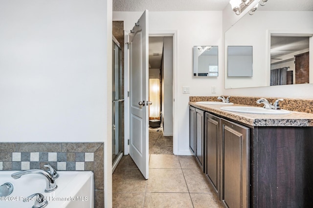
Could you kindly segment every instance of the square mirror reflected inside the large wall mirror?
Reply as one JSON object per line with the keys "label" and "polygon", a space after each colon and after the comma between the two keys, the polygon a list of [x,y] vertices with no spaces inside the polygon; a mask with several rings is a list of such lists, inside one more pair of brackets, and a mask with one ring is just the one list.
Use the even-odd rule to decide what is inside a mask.
{"label": "square mirror reflected inside the large wall mirror", "polygon": [[228,46],[227,75],[252,76],[252,46]]}

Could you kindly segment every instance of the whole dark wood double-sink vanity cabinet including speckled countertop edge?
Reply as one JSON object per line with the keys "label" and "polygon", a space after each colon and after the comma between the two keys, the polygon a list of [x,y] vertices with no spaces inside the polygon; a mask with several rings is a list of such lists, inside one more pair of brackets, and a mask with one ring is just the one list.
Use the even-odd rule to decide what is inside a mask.
{"label": "whole dark wood double-sink vanity cabinet including speckled countertop edge", "polygon": [[190,110],[195,156],[225,208],[312,207],[313,127],[303,126],[312,119],[199,108]]}

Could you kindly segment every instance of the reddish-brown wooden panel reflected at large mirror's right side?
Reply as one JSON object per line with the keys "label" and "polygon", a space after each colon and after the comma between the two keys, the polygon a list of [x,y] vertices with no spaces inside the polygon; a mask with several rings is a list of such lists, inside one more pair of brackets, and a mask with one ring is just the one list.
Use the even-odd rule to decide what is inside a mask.
{"label": "reddish-brown wooden panel reflected at large mirror's right side", "polygon": [[309,83],[309,52],[295,57],[295,83]]}

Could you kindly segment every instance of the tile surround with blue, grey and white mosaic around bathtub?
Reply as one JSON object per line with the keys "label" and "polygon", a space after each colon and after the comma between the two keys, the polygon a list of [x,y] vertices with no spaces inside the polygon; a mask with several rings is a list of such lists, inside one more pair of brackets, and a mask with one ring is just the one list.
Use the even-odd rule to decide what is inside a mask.
{"label": "tile surround with blue, grey and white mosaic around bathtub", "polygon": [[90,170],[94,173],[95,208],[104,207],[103,142],[1,142],[0,170]]}

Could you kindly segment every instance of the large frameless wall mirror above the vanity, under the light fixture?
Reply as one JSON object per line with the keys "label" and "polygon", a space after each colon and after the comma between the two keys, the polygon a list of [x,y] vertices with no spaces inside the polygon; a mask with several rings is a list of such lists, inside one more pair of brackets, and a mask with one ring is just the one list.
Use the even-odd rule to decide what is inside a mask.
{"label": "large frameless wall mirror above the vanity, under the light fixture", "polygon": [[[281,4],[273,8],[274,3],[279,4],[275,1]],[[284,10],[285,1],[275,1],[267,1],[253,15],[246,14],[226,31],[225,52],[230,45],[253,46],[253,75],[231,77],[225,71],[225,89],[313,83],[313,6],[300,9],[310,11],[299,11],[302,3],[299,1],[297,7],[293,7],[298,11],[290,11],[291,8],[278,11]],[[302,54],[311,62],[311,65],[304,64],[308,68],[308,73],[304,74],[296,70],[295,64]],[[226,54],[225,70],[227,61]],[[303,76],[309,80],[304,80]]]}

